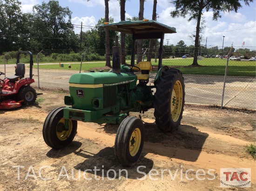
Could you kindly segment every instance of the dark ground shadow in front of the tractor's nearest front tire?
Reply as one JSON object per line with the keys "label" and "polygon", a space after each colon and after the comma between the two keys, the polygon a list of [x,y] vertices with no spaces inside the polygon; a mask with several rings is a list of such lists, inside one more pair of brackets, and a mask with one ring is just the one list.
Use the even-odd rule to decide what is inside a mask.
{"label": "dark ground shadow in front of the tractor's nearest front tire", "polygon": [[141,155],[134,166],[122,166],[115,158],[114,147],[105,147],[98,153],[90,153],[83,149],[74,152],[78,156],[86,158],[82,163],[74,166],[81,170],[87,178],[109,178],[109,179],[137,179],[148,174],[153,168],[154,162]]}

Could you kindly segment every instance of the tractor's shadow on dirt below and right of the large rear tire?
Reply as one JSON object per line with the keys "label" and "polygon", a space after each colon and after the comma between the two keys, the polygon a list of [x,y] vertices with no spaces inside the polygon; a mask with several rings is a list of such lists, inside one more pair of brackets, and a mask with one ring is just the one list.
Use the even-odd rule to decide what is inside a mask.
{"label": "tractor's shadow on dirt below and right of the large rear tire", "polygon": [[[143,121],[143,118],[142,118]],[[147,120],[145,120],[147,121]],[[180,125],[173,133],[164,133],[156,124],[144,122],[145,142],[142,154],[153,153],[169,159],[182,159],[195,162],[202,151],[203,144],[209,134],[198,131],[190,125]],[[106,124],[107,134],[116,134],[118,125]]]}

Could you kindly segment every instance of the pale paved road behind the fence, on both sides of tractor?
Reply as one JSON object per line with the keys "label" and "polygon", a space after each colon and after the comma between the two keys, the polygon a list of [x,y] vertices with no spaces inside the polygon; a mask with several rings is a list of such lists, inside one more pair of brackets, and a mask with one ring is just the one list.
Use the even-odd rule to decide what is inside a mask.
{"label": "pale paved road behind the fence, on both sides of tractor", "polygon": [[[4,72],[0,65],[0,71]],[[38,87],[37,69],[33,71]],[[77,73],[75,70],[42,70],[40,69],[40,88],[68,89],[69,77]],[[14,74],[14,65],[8,65],[6,76]],[[26,75],[29,70],[26,68]],[[183,75],[185,79],[185,102],[203,105],[221,105],[224,76]],[[3,78],[3,77],[2,77]],[[153,83],[155,74],[151,75]],[[223,106],[234,108],[256,109],[255,77],[227,76]]]}

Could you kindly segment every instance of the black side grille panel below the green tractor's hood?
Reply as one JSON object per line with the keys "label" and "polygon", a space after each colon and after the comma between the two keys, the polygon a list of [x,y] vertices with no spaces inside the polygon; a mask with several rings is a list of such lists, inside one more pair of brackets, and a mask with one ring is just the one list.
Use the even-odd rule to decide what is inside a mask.
{"label": "black side grille panel below the green tractor's hood", "polygon": [[116,86],[108,86],[103,88],[103,108],[116,105]]}

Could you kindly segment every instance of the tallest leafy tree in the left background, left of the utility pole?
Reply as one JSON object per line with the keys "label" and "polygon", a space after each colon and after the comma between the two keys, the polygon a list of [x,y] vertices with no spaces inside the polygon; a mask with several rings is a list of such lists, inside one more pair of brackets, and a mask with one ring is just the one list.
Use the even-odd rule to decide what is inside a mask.
{"label": "tallest leafy tree in the left background, left of the utility pole", "polygon": [[61,7],[59,1],[33,6],[34,36],[38,37],[43,49],[70,49],[74,43],[69,42],[69,36],[74,36],[74,26],[71,23],[72,12],[68,7]]}

